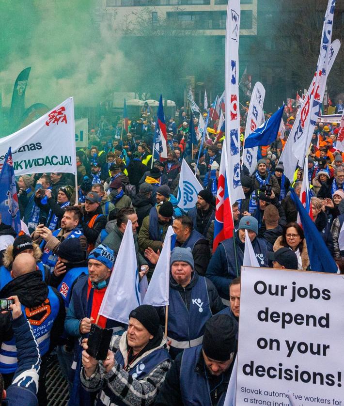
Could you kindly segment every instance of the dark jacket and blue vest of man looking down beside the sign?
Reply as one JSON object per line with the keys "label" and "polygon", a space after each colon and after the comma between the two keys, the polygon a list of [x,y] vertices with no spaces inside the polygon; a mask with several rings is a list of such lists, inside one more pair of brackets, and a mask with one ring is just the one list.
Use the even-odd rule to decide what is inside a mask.
{"label": "dark jacket and blue vest of man looking down beside the sign", "polygon": [[[190,354],[189,354],[190,353]],[[190,374],[186,378],[182,376],[183,358],[190,359],[188,371]],[[188,364],[188,362],[187,362]],[[222,374],[222,377],[206,374],[204,368],[204,359],[202,353],[202,345],[193,348],[187,348],[183,353],[178,354],[174,360],[170,371],[167,373],[165,382],[157,396],[155,406],[170,406],[170,405],[198,405],[198,406],[220,406],[223,405],[224,396],[227,392],[229,380],[232,374],[234,362],[231,363],[227,371]],[[185,365],[186,367],[188,365]],[[183,363],[183,368],[185,367]],[[185,385],[193,390],[183,390]],[[197,391],[196,388],[199,388]],[[216,389],[215,389],[216,388]],[[210,392],[211,391],[211,392]],[[208,393],[203,393],[208,392]],[[201,397],[196,402],[189,399],[195,394]],[[188,399],[186,397],[188,396]],[[209,400],[211,398],[211,403]]]}

